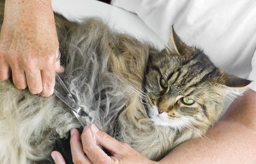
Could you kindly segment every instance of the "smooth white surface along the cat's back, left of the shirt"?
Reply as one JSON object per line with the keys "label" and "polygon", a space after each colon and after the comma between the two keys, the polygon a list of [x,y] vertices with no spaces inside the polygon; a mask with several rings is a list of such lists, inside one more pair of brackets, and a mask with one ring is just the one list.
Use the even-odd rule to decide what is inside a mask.
{"label": "smooth white surface along the cat's back, left of the shirt", "polygon": [[85,17],[102,18],[110,27],[123,33],[134,35],[138,39],[151,40],[157,47],[163,42],[136,14],[119,7],[96,0],[52,0],[53,10],[74,21],[83,21]]}

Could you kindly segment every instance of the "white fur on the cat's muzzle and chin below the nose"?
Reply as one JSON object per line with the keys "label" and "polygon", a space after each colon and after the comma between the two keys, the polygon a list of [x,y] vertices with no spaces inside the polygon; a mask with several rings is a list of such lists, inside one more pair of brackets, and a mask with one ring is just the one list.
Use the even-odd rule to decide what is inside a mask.
{"label": "white fur on the cat's muzzle and chin below the nose", "polygon": [[148,115],[155,125],[182,129],[182,127],[186,127],[186,125],[189,124],[189,119],[185,116],[181,118],[171,118],[166,112],[159,114],[156,105],[148,108]]}

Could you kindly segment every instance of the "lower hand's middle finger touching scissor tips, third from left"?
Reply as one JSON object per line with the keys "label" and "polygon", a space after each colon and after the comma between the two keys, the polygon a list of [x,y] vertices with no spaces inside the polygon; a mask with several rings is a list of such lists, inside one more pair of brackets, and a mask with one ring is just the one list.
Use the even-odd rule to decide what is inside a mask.
{"label": "lower hand's middle finger touching scissor tips, third from left", "polygon": [[109,157],[96,143],[94,136],[92,135],[91,129],[85,127],[81,140],[83,143],[83,150],[87,154],[87,157],[91,163],[98,164],[102,163],[111,163],[111,157]]}

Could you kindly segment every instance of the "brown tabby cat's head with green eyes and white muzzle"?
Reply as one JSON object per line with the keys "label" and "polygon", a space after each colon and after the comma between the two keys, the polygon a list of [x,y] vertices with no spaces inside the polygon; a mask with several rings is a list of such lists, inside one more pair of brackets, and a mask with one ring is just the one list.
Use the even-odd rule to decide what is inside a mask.
{"label": "brown tabby cat's head with green eyes and white muzzle", "polygon": [[221,113],[227,86],[241,87],[249,81],[228,76],[201,50],[174,35],[175,49],[150,56],[144,81],[147,114],[156,125],[208,126]]}

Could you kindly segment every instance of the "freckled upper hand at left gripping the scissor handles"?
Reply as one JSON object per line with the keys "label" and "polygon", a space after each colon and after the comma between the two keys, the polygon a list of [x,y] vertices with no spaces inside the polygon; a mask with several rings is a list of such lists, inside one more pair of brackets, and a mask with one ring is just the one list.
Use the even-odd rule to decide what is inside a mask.
{"label": "freckled upper hand at left gripping the scissor handles", "polygon": [[53,94],[59,42],[51,1],[6,0],[0,35],[0,80],[12,76],[18,89]]}

